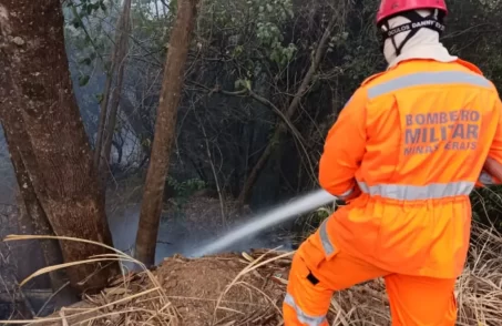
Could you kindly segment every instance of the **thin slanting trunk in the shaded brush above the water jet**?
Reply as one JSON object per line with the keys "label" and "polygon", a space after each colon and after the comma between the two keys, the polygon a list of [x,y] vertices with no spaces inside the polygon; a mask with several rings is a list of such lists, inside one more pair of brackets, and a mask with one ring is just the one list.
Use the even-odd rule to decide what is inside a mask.
{"label": "thin slanting trunk in the shaded brush above the water jet", "polygon": [[[295,96],[293,98],[291,103],[289,104],[289,108],[287,109],[285,116],[287,120],[291,120],[293,115],[296,113],[296,110],[298,109],[298,105],[300,103],[300,100],[303,96],[307,93],[308,85],[310,84],[315,73],[317,72],[317,69],[319,68],[320,62],[322,61],[322,57],[326,53],[327,44],[329,41],[329,37],[331,34],[331,30],[335,27],[335,21],[336,18],[334,17],[331,21],[328,23],[328,27],[326,28],[322,38],[319,41],[319,45],[317,47],[316,55],[310,64],[310,68],[308,69],[307,73],[304,77],[304,80],[301,81],[301,84],[296,92]],[[272,153],[276,149],[277,145],[280,144],[280,141],[283,139],[284,133],[286,132],[286,124],[285,122],[279,122],[276,126],[276,130],[274,131],[274,135],[272,136],[270,141],[268,142],[267,146],[265,147],[264,152],[258,159],[258,162],[256,162],[255,166],[253,166],[252,172],[249,173],[249,176],[247,177],[246,182],[244,183],[243,190],[240,191],[240,194],[238,196],[238,203],[239,206],[243,207],[244,204],[247,203],[249,200],[252,192],[253,192],[253,186],[255,185],[256,181],[258,180],[259,174],[262,173],[263,169],[268,162],[268,159],[270,157]]]}

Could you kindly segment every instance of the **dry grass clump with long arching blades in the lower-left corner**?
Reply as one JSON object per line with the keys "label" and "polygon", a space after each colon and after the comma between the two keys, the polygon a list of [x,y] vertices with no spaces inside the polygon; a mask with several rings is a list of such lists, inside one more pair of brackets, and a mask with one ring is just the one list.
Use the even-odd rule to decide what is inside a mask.
{"label": "dry grass clump with long arching blades in the lower-left corner", "polygon": [[[64,307],[58,312],[57,316],[37,318],[32,320],[0,320],[0,324],[29,324],[29,325],[95,325],[99,320],[113,322],[114,325],[135,325],[141,323],[144,325],[177,325],[173,324],[177,320],[177,315],[174,307],[166,299],[166,294],[158,284],[156,277],[145,265],[132,258],[131,256],[117,251],[113,247],[100,244],[96,242],[80,240],[64,236],[34,236],[34,235],[10,235],[4,238],[9,241],[22,240],[41,240],[57,238],[62,241],[75,241],[90,243],[106,247],[115,254],[96,255],[89,257],[86,261],[65,263],[55,266],[41,268],[21,282],[21,286],[31,278],[52,272],[54,269],[64,268],[80,264],[105,262],[105,261],[126,261],[137,264],[143,272],[137,274],[122,275],[122,277],[112,281],[109,288],[101,292],[100,295],[85,297],[85,302],[72,307]],[[146,277],[148,279],[146,287],[135,286],[132,281],[137,277]],[[112,324],[113,325],[113,324]]]}

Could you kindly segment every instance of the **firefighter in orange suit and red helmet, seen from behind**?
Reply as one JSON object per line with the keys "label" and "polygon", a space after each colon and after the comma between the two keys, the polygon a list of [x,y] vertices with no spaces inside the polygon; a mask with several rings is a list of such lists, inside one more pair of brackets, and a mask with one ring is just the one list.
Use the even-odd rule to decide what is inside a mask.
{"label": "firefighter in orange suit and red helmet, seen from behind", "polygon": [[[319,183],[347,205],[295,253],[285,326],[328,325],[336,291],[382,277],[392,325],[453,326],[470,240],[469,194],[502,163],[502,104],[440,43],[444,0],[382,0],[388,69],[362,82],[330,129]],[[483,175],[480,182],[479,177]]]}

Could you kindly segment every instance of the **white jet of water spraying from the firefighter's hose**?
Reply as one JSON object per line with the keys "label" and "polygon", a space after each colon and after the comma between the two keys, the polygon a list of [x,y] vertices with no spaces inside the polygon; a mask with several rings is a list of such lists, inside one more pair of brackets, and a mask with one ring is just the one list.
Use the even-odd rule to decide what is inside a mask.
{"label": "white jet of water spraying from the firefighter's hose", "polygon": [[334,195],[325,190],[317,190],[298,198],[289,201],[272,210],[270,212],[259,214],[249,222],[229,231],[226,235],[201,246],[193,253],[193,256],[199,257],[216,253],[225,247],[243,240],[243,237],[255,234],[264,228],[279,224],[284,221],[295,217],[318,208],[322,205],[332,203],[337,200]]}

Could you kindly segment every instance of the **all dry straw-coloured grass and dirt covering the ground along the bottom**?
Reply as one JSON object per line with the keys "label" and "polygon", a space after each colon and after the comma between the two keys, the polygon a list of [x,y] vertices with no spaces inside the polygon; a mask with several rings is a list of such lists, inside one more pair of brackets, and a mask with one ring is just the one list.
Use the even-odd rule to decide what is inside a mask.
{"label": "all dry straw-coloured grass and dirt covering the ground along the bottom", "polygon": [[[11,236],[8,241],[33,238]],[[66,238],[71,241],[81,241]],[[147,271],[132,257],[116,255],[90,259],[124,259],[143,267],[113,281],[100,295],[47,318],[9,320],[30,325],[281,325],[291,252],[256,251],[198,259],[167,258]],[[458,281],[458,325],[500,325],[502,320],[502,236],[474,225],[469,264]],[[80,262],[84,263],[84,262]],[[53,266],[39,271],[47,273]],[[192,271],[193,274],[188,272]],[[217,275],[217,277],[215,276]],[[331,325],[390,325],[381,279],[337,293],[330,307]]]}

